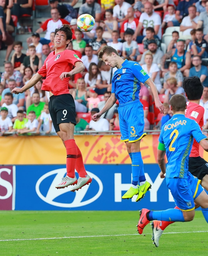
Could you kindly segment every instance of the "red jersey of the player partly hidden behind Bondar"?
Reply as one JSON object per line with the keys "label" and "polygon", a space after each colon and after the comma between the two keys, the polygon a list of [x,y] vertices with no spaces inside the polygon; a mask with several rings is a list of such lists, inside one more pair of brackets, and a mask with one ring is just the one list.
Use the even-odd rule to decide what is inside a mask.
{"label": "red jersey of the player partly hidden behind Bondar", "polygon": [[[185,116],[195,120],[199,124],[202,130],[202,127],[204,125],[204,108],[202,106],[200,106],[197,103],[188,101],[187,109],[185,111]],[[197,157],[197,156],[199,156],[199,143],[197,143],[196,140],[194,139],[190,157]]]}

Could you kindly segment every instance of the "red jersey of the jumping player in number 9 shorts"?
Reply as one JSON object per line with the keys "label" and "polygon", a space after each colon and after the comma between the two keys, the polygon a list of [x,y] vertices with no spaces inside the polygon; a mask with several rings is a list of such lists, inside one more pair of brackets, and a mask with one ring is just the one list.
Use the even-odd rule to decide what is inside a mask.
{"label": "red jersey of the jumping player in number 9 shorts", "polygon": [[69,77],[61,81],[60,75],[71,71],[77,61],[81,59],[74,51],[65,50],[57,54],[52,51],[38,70],[39,75],[46,77],[41,90],[52,92],[54,95],[69,93]]}

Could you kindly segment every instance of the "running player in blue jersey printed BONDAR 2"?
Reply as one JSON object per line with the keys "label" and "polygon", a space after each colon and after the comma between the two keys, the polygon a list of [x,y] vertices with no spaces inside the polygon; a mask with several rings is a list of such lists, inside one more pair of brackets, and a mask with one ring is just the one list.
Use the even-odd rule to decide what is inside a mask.
{"label": "running player in blue jersey printed BONDAR 2", "polygon": [[[139,234],[142,234],[143,228],[150,220],[180,222],[193,220],[194,202],[202,207],[202,213],[208,223],[208,195],[200,184],[201,180],[188,171],[193,138],[207,152],[208,142],[198,123],[185,117],[187,105],[183,95],[174,95],[170,99],[170,105],[173,117],[162,127],[158,145],[158,164],[161,169],[160,177],[165,178],[166,173],[167,186],[179,209],[156,212],[142,209],[137,226]],[[165,167],[165,153],[168,159],[167,167]]]}

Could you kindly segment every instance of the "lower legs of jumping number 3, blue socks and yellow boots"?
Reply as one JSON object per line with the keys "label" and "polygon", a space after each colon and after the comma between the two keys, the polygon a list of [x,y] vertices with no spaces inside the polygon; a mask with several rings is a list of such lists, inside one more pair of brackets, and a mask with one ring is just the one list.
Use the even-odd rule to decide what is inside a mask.
{"label": "lower legs of jumping number 3, blue socks and yellow boots", "polygon": [[[122,196],[123,199],[132,198],[134,195],[138,194],[136,201],[140,201],[147,190],[151,188],[151,184],[146,181],[143,168],[143,160],[140,152],[140,141],[128,142],[126,143],[126,148],[129,156],[132,160],[132,186],[130,189]],[[138,185],[140,182],[140,186]]]}

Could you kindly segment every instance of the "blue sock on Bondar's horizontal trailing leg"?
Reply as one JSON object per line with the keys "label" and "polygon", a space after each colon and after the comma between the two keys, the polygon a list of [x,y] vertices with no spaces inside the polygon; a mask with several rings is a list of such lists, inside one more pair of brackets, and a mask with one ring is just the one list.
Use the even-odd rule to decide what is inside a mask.
{"label": "blue sock on Bondar's horizontal trailing leg", "polygon": [[[208,211],[207,211],[208,217]],[[184,216],[179,209],[167,209],[165,211],[150,211],[148,220],[165,220],[165,221],[179,221],[184,222]]]}

